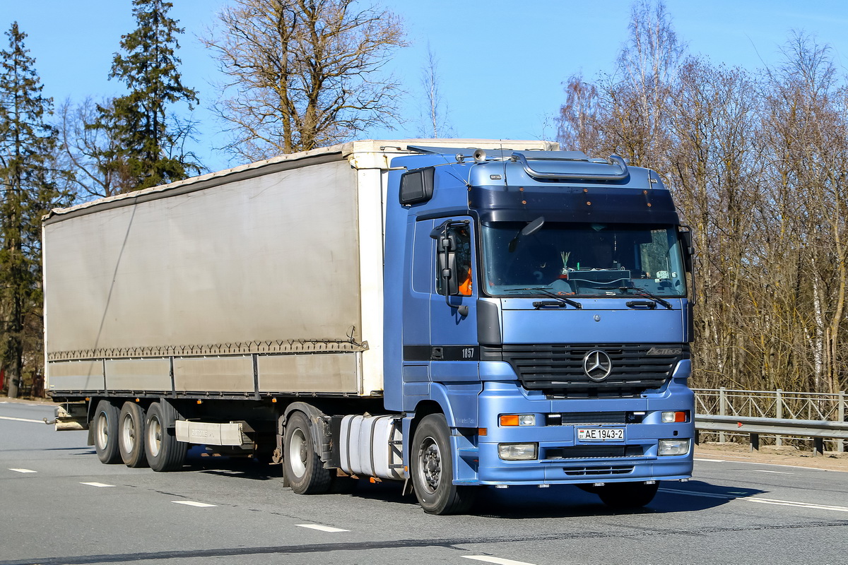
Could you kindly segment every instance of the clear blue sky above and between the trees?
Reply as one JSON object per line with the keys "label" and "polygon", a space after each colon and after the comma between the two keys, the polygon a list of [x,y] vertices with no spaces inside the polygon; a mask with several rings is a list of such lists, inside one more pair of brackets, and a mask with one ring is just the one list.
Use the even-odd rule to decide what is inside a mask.
{"label": "clear blue sky above and between the trees", "polygon": [[[198,143],[192,147],[212,170],[239,163],[216,147],[222,125],[207,109],[210,85],[220,76],[197,36],[215,22],[226,0],[172,0],[170,15],[186,28],[181,36],[183,83],[198,90]],[[553,139],[552,117],[563,102],[562,83],[576,73],[592,79],[610,72],[627,40],[630,3],[571,0],[384,0],[404,19],[410,47],[388,67],[407,94],[399,101],[403,124],[361,136],[416,136],[421,104],[420,75],[427,44],[438,58],[440,86],[457,137]],[[848,1],[667,0],[678,38],[690,53],[715,64],[755,70],[776,64],[790,30],[804,30],[828,43],[840,74],[848,75]],[[130,0],[0,0],[0,27],[13,21],[28,35],[44,92],[56,105],[70,98],[101,99],[123,93],[109,81],[120,36],[135,27]],[[8,45],[0,38],[3,48]]]}

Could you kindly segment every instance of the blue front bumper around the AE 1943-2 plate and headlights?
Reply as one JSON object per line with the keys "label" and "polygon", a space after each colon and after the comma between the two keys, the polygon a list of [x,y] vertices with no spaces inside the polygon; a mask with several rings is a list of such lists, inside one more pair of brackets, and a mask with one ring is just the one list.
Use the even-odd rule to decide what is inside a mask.
{"label": "blue front bumper around the AE 1943-2 plate and headlights", "polygon": [[[683,368],[683,372],[688,368]],[[680,367],[678,367],[680,369]],[[676,377],[688,376],[678,372]],[[479,425],[486,435],[477,436],[477,449],[460,450],[467,466],[457,484],[541,485],[688,479],[693,468],[695,437],[694,394],[685,378],[672,378],[655,394],[633,398],[549,399],[524,391],[516,382],[487,382],[479,396]],[[664,411],[686,410],[687,422],[663,424]],[[499,426],[500,414],[536,414],[537,425]],[[546,425],[547,414],[584,413],[586,423]],[[638,414],[638,423],[592,424],[591,415]],[[603,421],[604,418],[598,418]],[[578,428],[623,428],[623,440],[583,441]],[[679,456],[658,456],[659,440],[689,440],[689,451]],[[505,461],[499,443],[538,443],[537,458]],[[471,456],[475,456],[471,461]],[[476,463],[476,465],[473,465]],[[473,479],[467,474],[476,467]],[[471,479],[468,480],[468,479]]]}

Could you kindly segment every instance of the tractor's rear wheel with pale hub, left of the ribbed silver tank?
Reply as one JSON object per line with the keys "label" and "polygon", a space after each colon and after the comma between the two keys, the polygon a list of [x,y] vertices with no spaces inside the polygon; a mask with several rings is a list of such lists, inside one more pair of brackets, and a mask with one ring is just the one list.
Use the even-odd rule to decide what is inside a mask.
{"label": "tractor's rear wheel with pale hub, left of the ribbed silver tank", "polygon": [[321,495],[330,490],[332,474],[315,452],[309,420],[294,412],[286,423],[284,472],[288,485],[298,495]]}

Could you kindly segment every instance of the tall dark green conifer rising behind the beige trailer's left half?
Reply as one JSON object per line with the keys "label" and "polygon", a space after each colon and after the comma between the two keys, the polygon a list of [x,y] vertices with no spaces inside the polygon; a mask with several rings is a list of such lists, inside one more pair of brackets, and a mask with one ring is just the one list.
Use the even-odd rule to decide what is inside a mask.
{"label": "tall dark green conifer rising behind the beige trailer's left half", "polygon": [[[182,85],[176,57],[176,35],[184,30],[168,17],[172,4],[165,0],[133,0],[136,30],[121,36],[124,54],[115,53],[110,79],[124,82],[129,94],[99,107],[97,125],[117,141],[104,152],[102,167],[120,179],[121,191],[134,191],[185,179],[199,171],[192,154],[181,152],[186,130],[169,129],[170,104],[198,102],[197,92]],[[178,154],[174,154],[178,153]]]}

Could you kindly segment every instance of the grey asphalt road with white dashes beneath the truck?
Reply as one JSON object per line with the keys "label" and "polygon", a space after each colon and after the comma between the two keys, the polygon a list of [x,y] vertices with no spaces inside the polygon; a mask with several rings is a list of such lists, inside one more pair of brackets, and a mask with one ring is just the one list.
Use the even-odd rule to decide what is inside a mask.
{"label": "grey asphalt road with white dashes beneath the truck", "polygon": [[0,565],[19,563],[848,563],[848,473],[696,459],[643,510],[575,487],[485,490],[425,514],[398,484],[298,496],[279,468],[190,453],[103,465],[53,407],[0,403]]}

